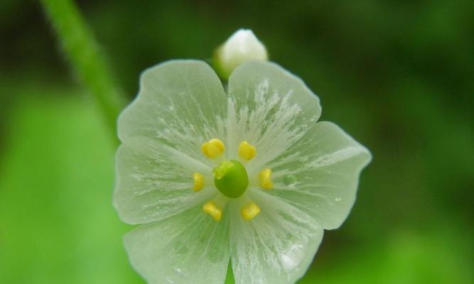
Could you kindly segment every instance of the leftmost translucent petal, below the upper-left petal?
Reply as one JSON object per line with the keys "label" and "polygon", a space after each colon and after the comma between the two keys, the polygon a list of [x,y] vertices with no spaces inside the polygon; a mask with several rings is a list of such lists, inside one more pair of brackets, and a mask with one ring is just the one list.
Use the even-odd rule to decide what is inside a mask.
{"label": "leftmost translucent petal, below the upper-left petal", "polygon": [[[151,138],[128,138],[117,151],[114,205],[124,222],[140,224],[166,218],[202,204],[217,191],[211,168]],[[205,187],[193,191],[193,173]]]}

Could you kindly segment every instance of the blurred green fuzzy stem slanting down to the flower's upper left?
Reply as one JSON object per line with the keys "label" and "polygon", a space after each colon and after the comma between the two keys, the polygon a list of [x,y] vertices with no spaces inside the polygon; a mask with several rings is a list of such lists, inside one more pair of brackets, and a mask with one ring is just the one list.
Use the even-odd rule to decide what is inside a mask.
{"label": "blurred green fuzzy stem slanting down to the flower's upper left", "polygon": [[117,116],[124,97],[112,80],[98,45],[75,3],[71,0],[41,0],[72,69],[95,99],[104,119],[117,140]]}

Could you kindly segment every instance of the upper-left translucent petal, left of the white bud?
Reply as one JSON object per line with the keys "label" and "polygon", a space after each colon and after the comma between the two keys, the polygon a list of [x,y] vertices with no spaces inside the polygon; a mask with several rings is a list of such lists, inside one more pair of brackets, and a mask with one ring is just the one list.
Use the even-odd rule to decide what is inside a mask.
{"label": "upper-left translucent petal, left of the white bud", "polygon": [[171,60],[145,70],[136,100],[119,117],[119,138],[154,138],[193,158],[201,143],[225,138],[227,96],[203,61]]}

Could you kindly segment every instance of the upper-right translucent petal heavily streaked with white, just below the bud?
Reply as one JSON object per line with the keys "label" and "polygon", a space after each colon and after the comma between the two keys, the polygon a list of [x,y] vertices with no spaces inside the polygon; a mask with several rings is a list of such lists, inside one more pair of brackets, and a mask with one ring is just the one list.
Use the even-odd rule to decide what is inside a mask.
{"label": "upper-right translucent petal heavily streaked with white, just below the bud", "polygon": [[248,62],[229,79],[227,144],[237,158],[240,141],[257,148],[250,173],[301,138],[321,115],[319,99],[295,75],[271,62]]}

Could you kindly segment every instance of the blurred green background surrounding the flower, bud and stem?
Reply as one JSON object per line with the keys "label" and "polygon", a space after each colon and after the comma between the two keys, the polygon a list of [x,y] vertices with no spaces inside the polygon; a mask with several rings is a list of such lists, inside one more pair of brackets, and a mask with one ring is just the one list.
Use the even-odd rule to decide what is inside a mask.
{"label": "blurred green background surrounding the flower, bud and stem", "polygon": [[[301,283],[474,283],[472,1],[77,4],[129,100],[144,68],[252,28],[370,148]],[[114,138],[41,5],[0,11],[0,282],[143,283],[112,207]]]}

